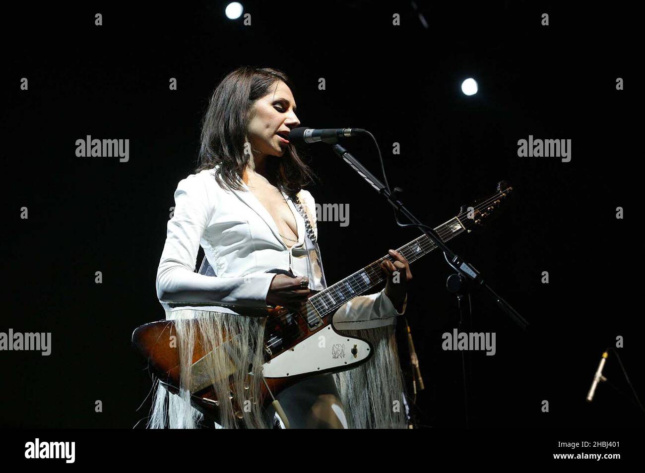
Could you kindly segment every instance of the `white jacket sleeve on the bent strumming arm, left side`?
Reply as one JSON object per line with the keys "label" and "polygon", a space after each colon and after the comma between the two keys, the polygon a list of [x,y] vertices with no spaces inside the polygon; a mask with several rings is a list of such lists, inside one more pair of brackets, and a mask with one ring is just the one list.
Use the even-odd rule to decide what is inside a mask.
{"label": "white jacket sleeve on the bent strumming arm, left side", "polygon": [[177,184],[175,211],[157,269],[159,302],[268,307],[266,294],[275,274],[222,278],[195,273],[199,242],[214,208],[203,180],[190,175]]}

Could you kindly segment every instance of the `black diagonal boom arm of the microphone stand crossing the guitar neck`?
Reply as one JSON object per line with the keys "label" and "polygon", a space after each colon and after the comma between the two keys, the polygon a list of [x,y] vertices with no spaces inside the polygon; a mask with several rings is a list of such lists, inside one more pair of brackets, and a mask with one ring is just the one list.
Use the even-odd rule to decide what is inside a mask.
{"label": "black diagonal boom arm of the microphone stand crossing the guitar neck", "polygon": [[481,273],[477,271],[473,267],[473,265],[469,264],[466,262],[463,258],[455,254],[444,242],[439,238],[439,235],[435,233],[435,231],[424,224],[421,223],[421,221],[415,217],[412,212],[410,212],[399,200],[399,198],[396,195],[393,195],[393,193],[390,193],[388,189],[382,184],[380,180],[378,180],[370,171],[368,171],[362,164],[355,158],[353,157],[349,151],[347,151],[345,148],[343,148],[339,144],[335,144],[332,146],[333,151],[339,155],[347,164],[349,164],[352,169],[354,169],[363,179],[365,179],[370,186],[372,186],[379,194],[381,194],[383,197],[385,197],[388,202],[395,208],[397,211],[401,212],[403,215],[405,215],[410,222],[413,224],[419,226],[423,233],[425,233],[432,242],[434,242],[441,251],[443,251],[444,255],[446,256],[446,261],[448,261],[448,264],[457,271],[459,275],[461,275],[463,278],[465,278],[466,281],[471,283],[472,287],[476,287],[477,289],[481,289],[484,293],[488,294],[497,307],[502,310],[506,315],[508,315],[513,322],[517,323],[519,327],[522,329],[522,331],[526,331],[528,327],[528,322],[519,314],[513,307],[511,307],[508,302],[506,302],[504,299],[501,298],[491,287],[484,282],[484,278],[482,278]]}

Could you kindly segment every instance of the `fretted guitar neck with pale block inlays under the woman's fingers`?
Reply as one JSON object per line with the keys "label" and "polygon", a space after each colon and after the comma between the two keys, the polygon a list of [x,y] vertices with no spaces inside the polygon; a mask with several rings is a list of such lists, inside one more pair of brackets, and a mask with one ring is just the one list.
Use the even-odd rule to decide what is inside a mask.
{"label": "fretted guitar neck with pale block inlays under the woman's fingers", "polygon": [[[442,241],[447,242],[464,230],[461,220],[455,217],[436,227],[435,233],[441,237]],[[415,238],[412,242],[397,248],[397,251],[408,260],[408,263],[412,264],[422,256],[428,255],[436,247],[437,245],[427,235],[421,235],[421,237]],[[313,304],[313,307],[321,316],[335,311],[356,296],[364,294],[384,282],[385,275],[381,270],[383,260],[393,261],[394,258],[390,255],[383,256],[343,280],[314,294],[309,298],[309,302]]]}

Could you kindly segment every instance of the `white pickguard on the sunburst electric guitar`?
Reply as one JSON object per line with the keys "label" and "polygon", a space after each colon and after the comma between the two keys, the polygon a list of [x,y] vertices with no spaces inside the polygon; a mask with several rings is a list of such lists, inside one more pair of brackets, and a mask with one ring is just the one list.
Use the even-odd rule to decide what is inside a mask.
{"label": "white pickguard on the sunburst electric guitar", "polygon": [[[355,354],[352,350],[355,349]],[[370,356],[370,345],[358,338],[342,336],[328,325],[326,329],[305,338],[292,349],[264,363],[265,378],[286,378],[330,368],[348,369]],[[339,370],[341,371],[341,370]]]}

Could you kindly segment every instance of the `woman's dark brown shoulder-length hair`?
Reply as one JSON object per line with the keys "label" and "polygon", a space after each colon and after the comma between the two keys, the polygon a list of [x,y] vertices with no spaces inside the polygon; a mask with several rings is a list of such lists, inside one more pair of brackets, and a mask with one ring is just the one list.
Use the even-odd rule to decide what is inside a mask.
{"label": "woman's dark brown shoulder-length hair", "polygon": [[[195,173],[219,164],[215,175],[217,183],[221,187],[244,190],[241,180],[250,159],[244,153],[244,142],[248,136],[247,113],[255,101],[269,93],[277,81],[283,81],[293,90],[286,74],[271,68],[243,66],[219,82],[204,113],[199,164]],[[268,181],[292,198],[315,177],[291,143],[283,157],[270,159],[266,164]]]}

